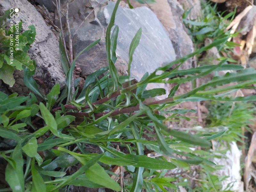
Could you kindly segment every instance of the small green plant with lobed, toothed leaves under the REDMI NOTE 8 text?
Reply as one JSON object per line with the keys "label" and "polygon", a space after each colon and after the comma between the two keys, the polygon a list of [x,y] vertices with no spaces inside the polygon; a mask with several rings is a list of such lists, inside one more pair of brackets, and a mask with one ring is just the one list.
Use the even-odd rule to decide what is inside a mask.
{"label": "small green plant with lobed, toothed leaves under the REDMI NOTE 8 text", "polygon": [[0,17],[0,79],[9,86],[13,86],[15,80],[12,76],[14,69],[22,70],[27,67],[34,70],[33,61],[28,56],[29,46],[34,42],[36,36],[35,26],[29,26],[29,30],[22,34],[22,21],[12,21],[5,28],[6,19],[10,19],[9,10]]}

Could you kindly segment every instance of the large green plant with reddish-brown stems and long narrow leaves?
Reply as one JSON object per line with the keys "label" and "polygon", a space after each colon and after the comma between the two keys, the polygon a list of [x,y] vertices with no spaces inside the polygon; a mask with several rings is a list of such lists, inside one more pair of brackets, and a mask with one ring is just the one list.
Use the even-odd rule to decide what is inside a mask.
{"label": "large green plant with reddish-brown stems and long narrow leaves", "polygon": [[[108,175],[108,173],[115,175],[110,172],[113,165],[124,166],[132,177],[132,180],[120,182],[121,185],[125,184],[122,185],[123,189],[136,192],[142,189],[150,192],[175,190],[177,186],[172,183],[175,178],[164,177],[165,170],[176,167],[189,169],[190,164],[214,165],[211,161],[196,155],[191,151],[191,147],[196,145],[207,150],[211,147],[209,140],[219,137],[224,132],[192,135],[169,129],[163,123],[168,120],[163,116],[164,113],[185,114],[188,111],[195,111],[165,109],[186,101],[256,100],[255,95],[236,98],[227,96],[229,90],[243,88],[245,84],[256,82],[256,71],[253,69],[244,70],[240,66],[226,64],[225,59],[218,65],[178,70],[184,61],[222,44],[226,37],[158,68],[150,75],[146,73],[138,83],[132,84],[134,78],[131,76],[119,76],[115,67],[118,27],[111,36],[119,1],[116,3],[106,32],[108,67],[101,68],[88,76],[78,96],[78,90],[73,97],[70,95],[70,78],[76,58],[100,40],[95,41],[76,56],[71,67],[66,71],[66,88],[60,94],[60,86],[54,85],[44,98],[47,101],[45,104],[42,102],[37,104],[33,93],[28,97],[18,97],[15,93],[8,96],[0,92],[0,136],[3,143],[0,157],[7,164],[5,180],[10,186],[3,190],[68,191],[69,186],[74,185],[90,188],[105,187],[120,191],[120,185]],[[130,62],[132,62],[132,53],[139,44],[140,34],[139,30],[132,41],[129,52]],[[166,72],[175,64],[178,64],[176,68]],[[215,77],[185,94],[175,94],[179,84],[193,81],[212,71],[227,69],[236,70],[237,73]],[[31,73],[26,71],[28,72],[28,68],[24,71],[24,79],[27,79],[31,90],[37,91],[37,85],[32,79],[33,71]],[[156,75],[158,71],[163,73]],[[103,77],[100,78],[102,75]],[[166,78],[172,79],[166,80]],[[126,82],[129,84],[128,87],[124,87]],[[219,85],[231,82],[237,82],[235,88],[233,86],[218,88]],[[166,99],[148,102],[147,98],[165,94],[164,89],[145,90],[148,83],[177,85],[172,88]],[[218,94],[220,92],[223,93]],[[68,104],[62,104],[64,99]],[[151,137],[150,140],[144,137],[146,130],[149,132],[147,135]],[[86,146],[97,150],[90,152]],[[117,146],[120,151],[117,150]],[[145,148],[162,156],[150,158],[144,154]],[[102,153],[97,154],[96,151]],[[75,172],[69,172],[68,167],[78,163],[81,167]],[[156,170],[162,171],[159,173]]]}

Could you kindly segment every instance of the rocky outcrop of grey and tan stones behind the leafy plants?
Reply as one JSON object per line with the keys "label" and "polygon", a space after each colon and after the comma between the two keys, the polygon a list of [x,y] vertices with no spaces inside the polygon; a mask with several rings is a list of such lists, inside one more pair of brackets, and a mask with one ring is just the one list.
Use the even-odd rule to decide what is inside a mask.
{"label": "rocky outcrop of grey and tan stones behind the leafy plants", "polygon": [[[21,19],[24,20],[24,29],[28,28],[30,24],[36,25],[36,41],[29,51],[30,56],[37,63],[35,79],[41,82],[43,87],[51,87],[54,83],[64,86],[65,77],[59,60],[58,39],[46,25],[42,16],[26,0],[19,0],[15,3],[11,0],[3,3],[2,1],[0,0],[1,4],[4,4],[4,9],[12,7],[14,4],[19,5],[22,13]],[[35,1],[47,7],[50,12],[55,9],[52,1]],[[101,39],[99,44],[81,54],[77,60],[76,64],[81,68],[80,74],[84,78],[95,70],[108,65],[105,32],[114,5],[114,2],[107,0],[100,1],[99,5],[95,0],[70,1],[69,23],[73,35],[74,55],[77,55],[93,41]],[[177,0],[159,0],[155,4],[150,4],[149,8],[139,4],[140,7],[134,6],[134,9],[130,9],[124,2],[121,5],[115,20],[115,25],[119,26],[116,68],[120,74],[127,75],[129,46],[140,27],[142,36],[140,44],[134,52],[131,66],[131,75],[137,80],[140,80],[146,72],[151,73],[156,68],[194,51],[193,43],[182,22],[184,10]],[[61,11],[64,14],[65,6],[66,4],[62,2]],[[95,10],[88,16],[94,8]],[[55,24],[58,25],[56,11],[55,19]],[[62,19],[64,21],[64,17]],[[65,26],[63,27],[65,28]],[[192,60],[188,60],[180,68],[190,68],[191,63]],[[19,79],[20,75],[16,75],[16,77]],[[22,82],[22,79],[18,81]],[[22,87],[22,84],[19,84],[19,87]]]}

